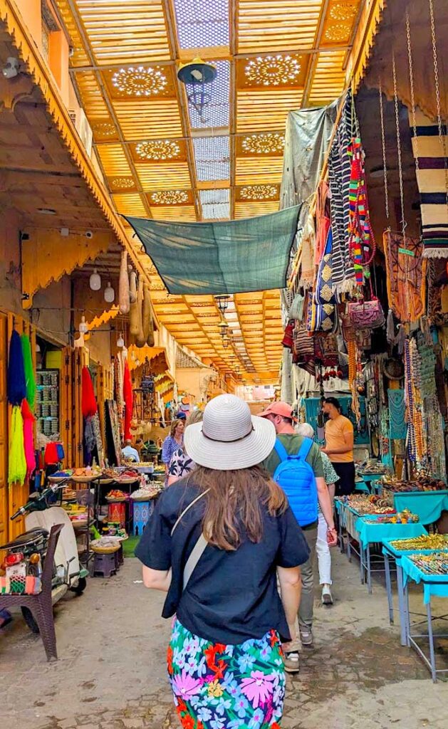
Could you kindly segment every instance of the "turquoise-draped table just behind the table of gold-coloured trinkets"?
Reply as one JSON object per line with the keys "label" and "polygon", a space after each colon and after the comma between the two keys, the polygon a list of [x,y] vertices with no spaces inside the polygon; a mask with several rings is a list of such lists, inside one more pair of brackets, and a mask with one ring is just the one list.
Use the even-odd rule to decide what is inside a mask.
{"label": "turquoise-draped table just behind the table of gold-coloured trinkets", "polygon": [[360,516],[355,523],[355,531],[358,534],[360,543],[361,574],[367,576],[369,594],[372,591],[372,572],[383,572],[383,569],[385,569],[382,567],[381,569],[372,570],[370,545],[378,542],[382,544],[383,539],[411,539],[412,537],[420,537],[422,534],[428,534],[425,527],[420,523],[392,524],[382,523],[378,521],[379,519],[381,519],[381,515],[366,515]]}

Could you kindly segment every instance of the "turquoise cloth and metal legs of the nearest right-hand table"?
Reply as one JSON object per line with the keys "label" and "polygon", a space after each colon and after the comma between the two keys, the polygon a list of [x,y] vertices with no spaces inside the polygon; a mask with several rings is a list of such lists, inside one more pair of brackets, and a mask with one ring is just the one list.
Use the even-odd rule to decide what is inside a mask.
{"label": "turquoise cloth and metal legs of the nearest right-hand table", "polygon": [[[401,569],[403,571],[403,604],[405,607],[405,620],[406,620],[406,642],[409,647],[413,647],[414,650],[421,656],[425,661],[426,665],[430,669],[431,677],[435,683],[437,680],[437,674],[447,674],[448,668],[436,668],[436,651],[434,645],[435,638],[446,639],[448,634],[435,634],[433,633],[433,615],[431,611],[431,597],[448,597],[448,574],[426,574],[409,559],[409,557],[401,557]],[[412,626],[409,615],[409,581],[416,582],[417,585],[423,587],[423,602],[426,605],[426,615],[428,620],[428,634],[412,634]],[[445,619],[447,616],[439,617],[439,620]],[[416,626],[414,626],[416,627]],[[417,639],[427,639],[429,644],[429,658],[422,650],[420,645],[417,643]]]}

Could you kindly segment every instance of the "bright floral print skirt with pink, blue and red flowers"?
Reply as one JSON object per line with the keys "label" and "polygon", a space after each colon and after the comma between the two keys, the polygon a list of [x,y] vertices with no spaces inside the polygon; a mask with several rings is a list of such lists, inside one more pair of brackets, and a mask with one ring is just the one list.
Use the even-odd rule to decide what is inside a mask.
{"label": "bright floral print skirt with pink, blue and red flowers", "polygon": [[279,729],[286,680],[276,631],[223,645],[174,620],[168,672],[184,729]]}

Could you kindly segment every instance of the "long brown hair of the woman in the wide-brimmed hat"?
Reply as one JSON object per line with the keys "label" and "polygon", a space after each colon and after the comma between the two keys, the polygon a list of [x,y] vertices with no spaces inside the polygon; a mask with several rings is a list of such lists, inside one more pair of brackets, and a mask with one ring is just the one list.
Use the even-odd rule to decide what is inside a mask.
{"label": "long brown hair of the woman in the wide-brimmed hat", "polygon": [[186,479],[201,491],[209,489],[203,531],[207,541],[223,550],[236,550],[241,543],[240,531],[251,542],[263,537],[263,507],[271,516],[282,514],[287,498],[282,489],[259,466],[238,471],[216,471],[196,466]]}

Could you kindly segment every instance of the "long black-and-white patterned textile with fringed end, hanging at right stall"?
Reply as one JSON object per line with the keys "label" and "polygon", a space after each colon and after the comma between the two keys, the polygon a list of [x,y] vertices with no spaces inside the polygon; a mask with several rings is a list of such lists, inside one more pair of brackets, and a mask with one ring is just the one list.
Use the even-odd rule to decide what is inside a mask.
{"label": "long black-and-white patterned textile with fringed end, hanging at right stall", "polygon": [[[347,292],[355,280],[349,257],[349,185],[351,162],[348,154],[352,141],[352,94],[347,93],[336,135],[328,157],[328,183],[331,190],[331,226],[333,230],[333,291]],[[353,110],[354,111],[354,110]]]}

